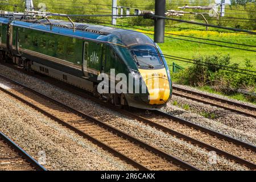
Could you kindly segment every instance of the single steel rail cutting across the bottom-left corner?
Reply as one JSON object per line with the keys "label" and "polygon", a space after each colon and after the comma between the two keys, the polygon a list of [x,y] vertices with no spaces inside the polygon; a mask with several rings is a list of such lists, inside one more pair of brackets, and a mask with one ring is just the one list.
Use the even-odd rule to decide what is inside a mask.
{"label": "single steel rail cutting across the bottom-left corner", "polygon": [[44,168],[34,158],[28,155],[26,151],[20,148],[18,144],[14,143],[13,140],[11,140],[1,131],[0,131],[0,138],[2,138],[7,144],[9,144],[9,146],[11,146],[16,152],[18,152],[18,154],[21,155],[25,160],[27,160],[28,163],[30,163],[33,167],[35,167],[35,169],[37,169],[38,171],[47,171],[46,168]]}

